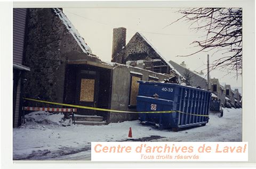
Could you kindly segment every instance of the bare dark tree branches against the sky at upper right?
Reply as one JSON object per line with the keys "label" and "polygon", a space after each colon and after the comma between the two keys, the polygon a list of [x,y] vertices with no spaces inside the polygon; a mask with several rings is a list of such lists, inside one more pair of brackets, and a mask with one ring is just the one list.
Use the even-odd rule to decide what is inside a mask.
{"label": "bare dark tree branches against the sky at upper right", "polygon": [[[199,52],[220,54],[223,57],[216,59],[211,69],[226,69],[242,74],[242,9],[241,8],[194,8],[181,9],[180,20],[190,24],[191,29],[204,30],[204,40],[193,41],[192,44],[201,47],[195,53],[183,56],[191,56]],[[172,23],[174,23],[172,22]],[[171,24],[172,24],[171,23]],[[169,24],[170,25],[170,24]]]}

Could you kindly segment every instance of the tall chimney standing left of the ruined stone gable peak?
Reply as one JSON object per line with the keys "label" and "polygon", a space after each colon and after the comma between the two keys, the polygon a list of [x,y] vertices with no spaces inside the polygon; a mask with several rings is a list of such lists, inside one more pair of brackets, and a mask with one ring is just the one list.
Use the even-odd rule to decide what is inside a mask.
{"label": "tall chimney standing left of the ruined stone gable peak", "polygon": [[126,45],[126,28],[114,28],[113,29],[113,44],[112,44],[112,57],[111,61],[116,62],[115,56]]}

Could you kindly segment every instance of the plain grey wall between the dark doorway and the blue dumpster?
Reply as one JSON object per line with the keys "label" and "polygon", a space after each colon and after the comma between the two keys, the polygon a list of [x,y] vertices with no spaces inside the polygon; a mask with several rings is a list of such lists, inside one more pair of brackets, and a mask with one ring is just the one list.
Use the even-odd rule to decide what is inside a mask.
{"label": "plain grey wall between the dark doorway and the blue dumpster", "polygon": [[[150,72],[147,70],[138,69],[132,66],[119,65],[113,70],[113,86],[111,94],[111,109],[122,111],[136,111],[136,108],[129,108],[129,95],[130,95],[130,78],[132,72],[142,73],[142,80],[148,81],[148,76],[158,77],[159,81],[168,78],[167,75]],[[122,122],[125,120],[136,120],[138,114],[131,113],[110,113],[110,122]]]}

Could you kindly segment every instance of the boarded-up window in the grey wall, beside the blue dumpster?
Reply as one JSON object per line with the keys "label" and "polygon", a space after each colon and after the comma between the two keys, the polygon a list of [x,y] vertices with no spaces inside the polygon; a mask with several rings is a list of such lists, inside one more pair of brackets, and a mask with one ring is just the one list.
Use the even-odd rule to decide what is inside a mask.
{"label": "boarded-up window in the grey wall, beside the blue dumpster", "polygon": [[141,77],[135,77],[132,75],[131,79],[131,90],[130,90],[130,106],[136,106],[137,104],[137,95],[139,92],[139,83],[138,80],[141,80]]}

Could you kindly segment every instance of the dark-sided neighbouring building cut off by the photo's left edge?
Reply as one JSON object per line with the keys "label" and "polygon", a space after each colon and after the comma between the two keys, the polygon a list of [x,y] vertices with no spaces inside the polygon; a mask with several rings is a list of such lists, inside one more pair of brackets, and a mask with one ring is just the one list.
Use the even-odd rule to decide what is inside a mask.
{"label": "dark-sided neighbouring building cut off by the photo's left edge", "polygon": [[13,9],[13,127],[21,124],[22,85],[26,82],[24,72],[30,71],[25,66],[25,33],[27,27],[27,9]]}

